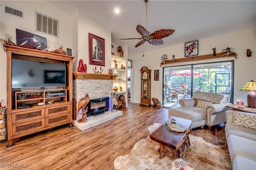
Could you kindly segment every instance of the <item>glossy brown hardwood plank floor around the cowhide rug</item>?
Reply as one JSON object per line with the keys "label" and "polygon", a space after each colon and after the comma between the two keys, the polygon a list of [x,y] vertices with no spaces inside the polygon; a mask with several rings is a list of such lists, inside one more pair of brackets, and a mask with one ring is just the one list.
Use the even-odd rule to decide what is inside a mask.
{"label": "glossy brown hardwood plank floor around the cowhide rug", "polygon": [[[29,170],[114,170],[114,159],[128,154],[134,144],[146,138],[148,126],[164,123],[168,119],[168,109],[153,109],[129,103],[122,109],[123,116],[107,121],[90,129],[80,131],[67,125],[53,131],[36,133],[14,139],[15,146],[0,145],[0,169],[23,164]],[[192,135],[202,137],[214,145],[226,145],[224,127],[212,130],[194,129]]]}

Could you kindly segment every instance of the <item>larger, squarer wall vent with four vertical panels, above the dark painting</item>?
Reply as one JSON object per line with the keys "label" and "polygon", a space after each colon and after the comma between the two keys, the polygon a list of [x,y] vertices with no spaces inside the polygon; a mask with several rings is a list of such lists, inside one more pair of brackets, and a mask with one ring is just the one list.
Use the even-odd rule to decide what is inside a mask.
{"label": "larger, squarer wall vent with four vertical panels, above the dark painting", "polygon": [[58,37],[59,20],[36,12],[36,32]]}

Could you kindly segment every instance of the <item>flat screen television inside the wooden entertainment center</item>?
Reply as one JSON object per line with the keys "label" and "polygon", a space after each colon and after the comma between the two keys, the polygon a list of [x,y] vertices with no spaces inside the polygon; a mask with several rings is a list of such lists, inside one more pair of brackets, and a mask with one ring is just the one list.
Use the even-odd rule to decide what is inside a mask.
{"label": "flat screen television inside the wooden entertainment center", "polygon": [[66,64],[12,59],[12,88],[67,86]]}

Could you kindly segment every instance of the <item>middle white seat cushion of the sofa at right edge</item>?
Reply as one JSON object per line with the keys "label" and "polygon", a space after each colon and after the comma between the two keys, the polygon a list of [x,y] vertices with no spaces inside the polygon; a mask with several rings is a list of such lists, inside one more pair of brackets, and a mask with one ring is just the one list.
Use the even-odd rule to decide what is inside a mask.
{"label": "middle white seat cushion of the sofa at right edge", "polygon": [[243,156],[250,160],[256,161],[255,141],[238,137],[235,135],[229,135],[227,143],[232,164],[236,155]]}

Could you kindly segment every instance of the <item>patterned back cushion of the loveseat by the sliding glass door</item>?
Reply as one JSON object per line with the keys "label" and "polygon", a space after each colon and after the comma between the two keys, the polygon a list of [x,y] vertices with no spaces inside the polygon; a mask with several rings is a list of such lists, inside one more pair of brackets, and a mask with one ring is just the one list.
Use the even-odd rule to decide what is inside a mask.
{"label": "patterned back cushion of the loveseat by the sliding glass door", "polygon": [[214,104],[230,102],[230,96],[228,96],[226,94],[221,94],[221,93],[210,93],[210,92],[196,91],[196,92],[194,92],[192,98],[205,100],[208,102],[213,102]]}

